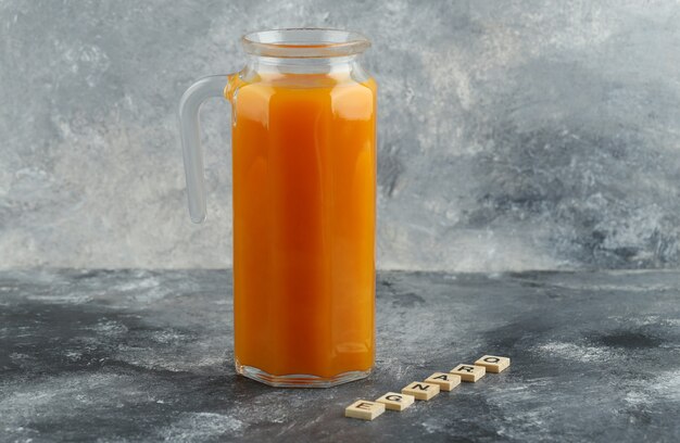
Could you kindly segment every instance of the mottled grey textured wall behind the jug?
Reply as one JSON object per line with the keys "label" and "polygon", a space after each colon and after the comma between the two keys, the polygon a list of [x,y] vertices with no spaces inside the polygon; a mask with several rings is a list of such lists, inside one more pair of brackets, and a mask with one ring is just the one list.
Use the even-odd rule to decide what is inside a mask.
{"label": "mottled grey textured wall behind the jug", "polygon": [[0,267],[230,264],[229,107],[189,221],[175,110],[248,30],[372,37],[379,265],[677,267],[678,1],[1,1]]}

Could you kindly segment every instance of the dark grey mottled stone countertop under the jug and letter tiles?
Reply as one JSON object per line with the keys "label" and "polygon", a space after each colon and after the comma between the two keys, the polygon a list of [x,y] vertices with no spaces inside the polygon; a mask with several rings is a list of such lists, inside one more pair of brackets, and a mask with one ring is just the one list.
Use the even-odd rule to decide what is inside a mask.
{"label": "dark grey mottled stone countertop under the jug and letter tiles", "polygon": [[[381,273],[377,364],[328,390],[235,375],[222,270],[0,273],[0,441],[678,441],[680,273]],[[513,365],[343,417],[482,354]]]}

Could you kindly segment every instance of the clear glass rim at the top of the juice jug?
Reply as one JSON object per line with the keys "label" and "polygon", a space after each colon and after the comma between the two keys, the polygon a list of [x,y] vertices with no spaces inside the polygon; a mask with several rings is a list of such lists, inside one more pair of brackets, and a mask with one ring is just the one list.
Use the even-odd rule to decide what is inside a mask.
{"label": "clear glass rim at the top of the juice jug", "polygon": [[302,27],[248,33],[241,45],[247,53],[259,56],[328,59],[360,54],[370,41],[353,30]]}

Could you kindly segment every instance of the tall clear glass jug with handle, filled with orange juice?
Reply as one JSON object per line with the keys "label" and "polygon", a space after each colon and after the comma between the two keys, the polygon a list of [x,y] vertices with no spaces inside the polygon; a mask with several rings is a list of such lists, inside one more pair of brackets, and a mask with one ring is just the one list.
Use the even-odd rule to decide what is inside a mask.
{"label": "tall clear glass jug with handle, filled with orange juice", "polygon": [[199,107],[231,103],[237,372],[276,387],[366,377],[375,346],[376,83],[369,41],[333,29],[242,38],[237,74],[179,114],[191,219],[205,218]]}

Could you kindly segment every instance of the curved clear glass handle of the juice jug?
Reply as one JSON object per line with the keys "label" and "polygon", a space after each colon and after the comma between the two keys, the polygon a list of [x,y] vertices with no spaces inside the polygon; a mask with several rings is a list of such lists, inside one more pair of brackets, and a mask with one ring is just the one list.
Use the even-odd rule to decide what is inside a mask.
{"label": "curved clear glass handle of the juice jug", "polygon": [[199,134],[199,110],[211,97],[225,97],[232,75],[203,77],[186,90],[179,100],[179,129],[187,176],[189,214],[193,223],[205,219],[205,179],[203,177],[203,151]]}

